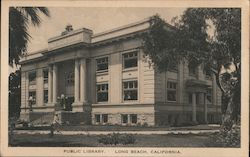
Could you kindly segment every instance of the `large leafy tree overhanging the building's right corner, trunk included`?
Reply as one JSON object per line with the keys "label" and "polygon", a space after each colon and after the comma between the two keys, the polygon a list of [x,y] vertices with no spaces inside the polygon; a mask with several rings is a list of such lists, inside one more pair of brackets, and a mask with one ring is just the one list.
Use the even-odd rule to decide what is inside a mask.
{"label": "large leafy tree overhanging the building's right corner, trunk included", "polygon": [[145,54],[159,71],[188,61],[213,72],[222,91],[223,126],[230,130],[240,120],[241,10],[188,8],[173,21],[175,26],[159,15],[151,17],[143,37]]}

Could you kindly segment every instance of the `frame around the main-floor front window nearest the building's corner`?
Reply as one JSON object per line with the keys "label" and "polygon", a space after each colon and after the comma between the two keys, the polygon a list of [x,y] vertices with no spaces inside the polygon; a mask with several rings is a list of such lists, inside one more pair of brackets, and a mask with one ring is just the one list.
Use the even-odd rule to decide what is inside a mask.
{"label": "frame around the main-floor front window nearest the building's corner", "polygon": [[[133,82],[133,87],[130,88],[130,82]],[[128,83],[128,87],[127,89],[124,88],[125,84],[124,83]],[[136,88],[134,87],[136,83]],[[138,80],[137,79],[133,79],[133,80],[123,80],[122,81],[122,100],[123,102],[131,102],[131,101],[138,101],[139,100],[139,87],[138,87]],[[129,100],[125,100],[125,91],[136,91],[136,99],[129,99]]]}

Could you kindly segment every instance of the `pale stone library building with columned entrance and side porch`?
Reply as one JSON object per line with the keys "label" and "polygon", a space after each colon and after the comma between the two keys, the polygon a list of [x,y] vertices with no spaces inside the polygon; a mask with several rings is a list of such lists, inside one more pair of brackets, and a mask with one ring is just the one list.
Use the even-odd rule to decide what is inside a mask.
{"label": "pale stone library building with columned entrance and side porch", "polygon": [[[48,124],[58,112],[70,124],[219,122],[214,76],[188,62],[157,72],[141,48],[148,28],[149,19],[99,34],[69,25],[48,40],[48,48],[24,56],[20,118]],[[70,110],[57,109],[62,96]]]}

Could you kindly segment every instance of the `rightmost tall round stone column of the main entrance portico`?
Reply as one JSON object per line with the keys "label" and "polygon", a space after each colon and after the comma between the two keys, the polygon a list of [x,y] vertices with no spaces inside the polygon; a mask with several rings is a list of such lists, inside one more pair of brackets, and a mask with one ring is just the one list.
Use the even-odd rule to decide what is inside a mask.
{"label": "rightmost tall round stone column of the main entrance portico", "polygon": [[86,102],[86,59],[80,61],[80,102]]}

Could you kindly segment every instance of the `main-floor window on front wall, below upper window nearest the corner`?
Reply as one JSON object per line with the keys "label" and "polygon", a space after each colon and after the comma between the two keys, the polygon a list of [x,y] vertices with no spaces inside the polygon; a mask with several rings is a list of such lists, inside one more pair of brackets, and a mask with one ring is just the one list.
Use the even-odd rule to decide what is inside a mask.
{"label": "main-floor window on front wall, below upper window nearest the corner", "polygon": [[137,81],[123,82],[123,100],[138,99]]}

